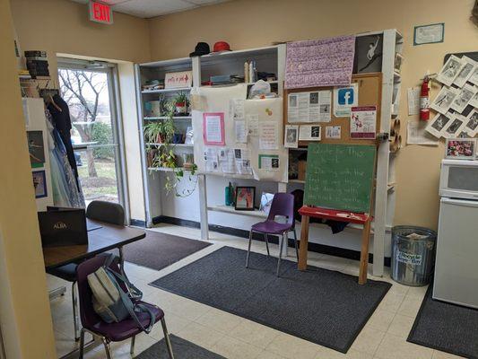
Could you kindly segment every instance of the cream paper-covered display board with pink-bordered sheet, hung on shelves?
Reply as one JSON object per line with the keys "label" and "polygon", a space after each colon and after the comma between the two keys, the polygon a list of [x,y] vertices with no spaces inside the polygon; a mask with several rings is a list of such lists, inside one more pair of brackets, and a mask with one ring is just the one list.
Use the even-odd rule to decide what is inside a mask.
{"label": "cream paper-covered display board with pink-bordered sheet, hung on shelves", "polygon": [[[195,162],[199,173],[287,182],[282,98],[246,100],[247,85],[193,92]],[[221,128],[222,127],[222,128]]]}

